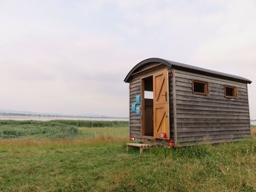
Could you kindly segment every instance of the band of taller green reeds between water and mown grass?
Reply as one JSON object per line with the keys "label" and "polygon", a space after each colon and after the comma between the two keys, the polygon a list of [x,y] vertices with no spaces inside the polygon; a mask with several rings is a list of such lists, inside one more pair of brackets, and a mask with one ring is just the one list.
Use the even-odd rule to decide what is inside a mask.
{"label": "band of taller green reeds between water and mown grass", "polygon": [[[15,136],[41,139],[41,138],[67,138],[78,137],[83,132],[88,134],[89,131],[80,131],[78,127],[88,128],[105,128],[110,127],[122,128],[127,127],[127,121],[92,121],[92,120],[0,120],[0,138],[13,138]],[[106,128],[108,127],[108,128]],[[91,131],[94,133],[95,131]]]}

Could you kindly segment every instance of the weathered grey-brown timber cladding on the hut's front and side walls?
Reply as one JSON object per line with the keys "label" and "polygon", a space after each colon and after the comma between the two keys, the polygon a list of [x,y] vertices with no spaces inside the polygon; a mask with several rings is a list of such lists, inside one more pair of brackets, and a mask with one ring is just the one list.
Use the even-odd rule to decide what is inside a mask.
{"label": "weathered grey-brown timber cladding on the hut's front and side walls", "polygon": [[[129,82],[129,104],[140,94],[140,78],[160,70],[138,73],[132,77]],[[173,71],[175,78],[171,77]],[[170,137],[176,138],[176,146],[240,141],[250,136],[248,89],[245,83],[177,69],[169,69],[168,74]],[[209,94],[193,94],[192,80],[208,82]],[[237,98],[225,97],[225,86],[237,88]],[[140,139],[140,126],[140,116],[129,112],[129,134]],[[154,142],[161,142],[161,139]]]}

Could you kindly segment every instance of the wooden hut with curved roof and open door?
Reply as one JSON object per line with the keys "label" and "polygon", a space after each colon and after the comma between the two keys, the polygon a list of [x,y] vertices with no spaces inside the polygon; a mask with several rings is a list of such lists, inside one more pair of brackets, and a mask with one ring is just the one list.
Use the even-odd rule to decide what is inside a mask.
{"label": "wooden hut with curved roof and open door", "polygon": [[231,142],[251,135],[244,77],[148,58],[129,82],[129,139],[168,146]]}

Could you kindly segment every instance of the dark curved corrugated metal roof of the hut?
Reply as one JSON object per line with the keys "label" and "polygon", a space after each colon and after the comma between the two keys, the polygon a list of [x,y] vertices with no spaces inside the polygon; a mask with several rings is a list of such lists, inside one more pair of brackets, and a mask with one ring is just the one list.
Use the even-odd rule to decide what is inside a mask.
{"label": "dark curved corrugated metal roof of the hut", "polygon": [[141,67],[143,67],[146,64],[150,64],[150,63],[164,64],[164,65],[168,66],[169,68],[179,69],[181,71],[192,72],[192,73],[196,73],[196,74],[208,75],[211,77],[218,77],[218,78],[225,79],[225,80],[233,80],[233,81],[244,82],[244,83],[252,82],[251,80],[248,80],[244,77],[239,77],[239,76],[236,76],[233,74],[216,72],[216,71],[213,71],[210,69],[204,69],[204,68],[201,68],[198,66],[181,64],[176,61],[170,61],[170,60],[166,60],[166,59],[162,59],[162,58],[147,58],[143,61],[140,61],[140,63],[135,65],[132,68],[132,70],[127,74],[127,77],[125,77],[124,82],[129,82],[131,80],[132,74],[134,72],[138,72],[141,69]]}

